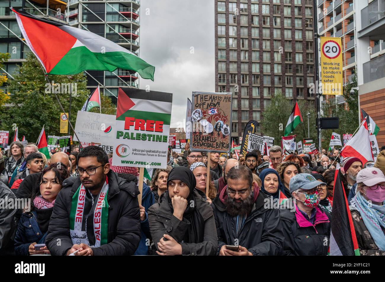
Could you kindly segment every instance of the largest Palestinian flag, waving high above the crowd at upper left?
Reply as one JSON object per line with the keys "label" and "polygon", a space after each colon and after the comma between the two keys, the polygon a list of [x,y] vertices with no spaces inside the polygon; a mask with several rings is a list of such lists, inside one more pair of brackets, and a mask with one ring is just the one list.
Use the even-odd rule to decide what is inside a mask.
{"label": "largest Palestinian flag, waving high above the crowd at upper left", "polygon": [[102,36],[10,9],[16,15],[25,42],[47,74],[72,75],[84,70],[114,71],[122,68],[154,80],[154,66]]}

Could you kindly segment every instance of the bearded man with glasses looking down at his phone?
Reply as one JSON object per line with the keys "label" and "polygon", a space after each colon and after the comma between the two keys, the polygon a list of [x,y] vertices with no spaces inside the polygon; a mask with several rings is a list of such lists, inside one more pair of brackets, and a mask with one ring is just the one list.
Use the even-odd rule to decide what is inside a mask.
{"label": "bearded man with glasses looking down at his phone", "polygon": [[280,255],[283,231],[278,209],[265,208],[268,198],[259,192],[246,166],[236,165],[226,176],[227,186],[211,204],[218,234],[217,254]]}

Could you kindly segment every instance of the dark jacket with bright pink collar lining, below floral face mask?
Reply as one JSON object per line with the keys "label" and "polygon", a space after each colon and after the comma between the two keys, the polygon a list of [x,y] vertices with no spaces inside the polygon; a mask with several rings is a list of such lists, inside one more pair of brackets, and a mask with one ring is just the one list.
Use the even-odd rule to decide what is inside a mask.
{"label": "dark jacket with bright pink collar lining, below floral face mask", "polygon": [[[293,198],[288,199],[293,204]],[[293,204],[293,207],[295,205]],[[295,206],[296,207],[296,206]],[[317,207],[314,225],[300,211],[280,209],[285,242],[283,255],[327,255],[331,215]],[[300,222],[296,214],[298,213]],[[300,227],[304,226],[304,227]]]}

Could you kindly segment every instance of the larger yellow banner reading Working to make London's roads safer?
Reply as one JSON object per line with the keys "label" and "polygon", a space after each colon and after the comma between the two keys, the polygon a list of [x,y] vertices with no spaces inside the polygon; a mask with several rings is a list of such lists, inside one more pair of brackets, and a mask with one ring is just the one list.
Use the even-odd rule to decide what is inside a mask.
{"label": "larger yellow banner reading Working to make London's roads safer", "polygon": [[321,37],[321,83],[324,95],[342,95],[341,46],[340,37]]}

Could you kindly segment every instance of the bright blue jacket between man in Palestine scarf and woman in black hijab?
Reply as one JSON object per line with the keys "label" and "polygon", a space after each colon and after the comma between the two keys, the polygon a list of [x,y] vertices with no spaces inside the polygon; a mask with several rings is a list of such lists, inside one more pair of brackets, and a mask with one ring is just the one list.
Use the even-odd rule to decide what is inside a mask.
{"label": "bright blue jacket between man in Palestine scarf and woman in black hijab", "polygon": [[139,242],[139,246],[136,249],[134,255],[148,255],[148,246],[150,246],[149,240],[151,239],[151,233],[147,211],[149,207],[154,204],[154,202],[154,194],[152,194],[150,187],[143,183],[142,206],[144,206],[144,209],[146,210],[146,218],[144,221],[141,221],[141,241]]}

